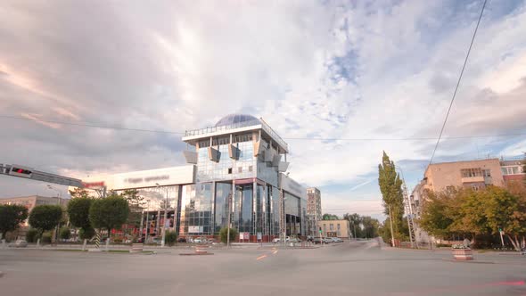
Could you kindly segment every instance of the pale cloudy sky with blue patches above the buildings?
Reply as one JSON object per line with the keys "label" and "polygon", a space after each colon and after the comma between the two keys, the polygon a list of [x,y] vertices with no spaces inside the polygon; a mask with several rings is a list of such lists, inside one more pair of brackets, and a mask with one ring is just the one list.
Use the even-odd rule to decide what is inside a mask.
{"label": "pale cloudy sky with blue patches above the buildings", "polygon": [[[481,5],[2,1],[0,163],[79,178],[182,165],[180,133],[247,113],[289,144],[290,177],[324,212],[383,218],[382,151],[411,190]],[[526,151],[524,32],[525,1],[488,1],[433,162]],[[0,177],[0,198],[59,192]]]}

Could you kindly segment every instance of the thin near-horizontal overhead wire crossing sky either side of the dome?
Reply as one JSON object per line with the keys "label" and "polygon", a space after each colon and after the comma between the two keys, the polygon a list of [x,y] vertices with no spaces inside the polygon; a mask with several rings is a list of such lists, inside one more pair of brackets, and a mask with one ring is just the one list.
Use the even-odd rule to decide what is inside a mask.
{"label": "thin near-horizontal overhead wire crossing sky either side of the dome", "polygon": [[[29,119],[25,117],[18,117],[18,116],[11,116],[11,115],[0,115],[0,118],[20,119],[20,120],[27,120],[27,121],[32,121],[32,122],[41,121],[41,122],[46,122],[46,123],[62,124],[66,126],[76,126],[76,127],[95,127],[95,128],[105,128],[105,129],[134,131],[134,132],[185,135],[185,132],[178,132],[178,131],[144,129],[144,128],[128,128],[128,127],[111,127],[111,126],[103,126],[101,124],[96,124],[96,123],[90,123],[90,122],[77,123],[77,122],[49,120],[49,119]],[[447,137],[442,137],[442,139],[455,140],[455,139],[476,139],[476,138],[507,137],[507,136],[526,136],[526,133],[480,135],[480,136],[447,136]],[[283,137],[283,139],[292,140],[292,141],[298,140],[298,141],[362,141],[362,142],[366,142],[366,141],[434,141],[434,140],[437,140],[437,137],[399,137],[399,138]]]}

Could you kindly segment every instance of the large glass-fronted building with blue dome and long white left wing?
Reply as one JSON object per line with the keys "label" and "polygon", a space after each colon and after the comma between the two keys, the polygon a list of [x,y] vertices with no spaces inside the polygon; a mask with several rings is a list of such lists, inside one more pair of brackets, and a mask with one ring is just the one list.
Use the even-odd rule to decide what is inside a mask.
{"label": "large glass-fronted building with blue dome and long white left wing", "polygon": [[280,217],[282,232],[307,234],[306,188],[285,173],[288,144],[263,119],[231,114],[186,131],[183,141],[185,166],[89,177],[86,187],[136,189],[146,208],[138,231],[149,238],[161,226],[182,237],[217,236],[230,219],[245,242],[268,242],[280,236]]}

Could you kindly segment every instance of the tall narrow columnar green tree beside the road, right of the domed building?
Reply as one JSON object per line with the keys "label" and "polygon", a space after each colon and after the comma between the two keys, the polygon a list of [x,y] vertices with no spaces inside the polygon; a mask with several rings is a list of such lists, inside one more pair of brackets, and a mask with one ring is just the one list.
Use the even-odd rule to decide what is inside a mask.
{"label": "tall narrow columnar green tree beside the road, right of the domed building", "polygon": [[407,236],[401,233],[404,217],[402,180],[396,172],[394,162],[385,152],[383,152],[382,163],[378,165],[378,185],[382,192],[384,212],[392,219],[394,237],[402,239]]}

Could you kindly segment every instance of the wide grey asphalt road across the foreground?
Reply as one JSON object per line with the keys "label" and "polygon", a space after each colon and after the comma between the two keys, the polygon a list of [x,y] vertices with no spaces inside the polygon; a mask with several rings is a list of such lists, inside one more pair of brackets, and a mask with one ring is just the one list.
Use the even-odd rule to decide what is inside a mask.
{"label": "wide grey asphalt road across the foreground", "polygon": [[2,295],[526,295],[526,257],[352,242],[210,256],[0,250]]}

